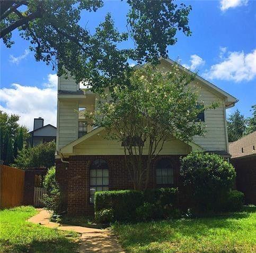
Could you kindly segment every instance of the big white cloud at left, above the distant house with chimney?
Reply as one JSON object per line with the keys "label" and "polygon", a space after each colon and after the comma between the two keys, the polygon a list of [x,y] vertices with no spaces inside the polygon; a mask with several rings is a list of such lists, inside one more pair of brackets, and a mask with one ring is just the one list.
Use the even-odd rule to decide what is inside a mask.
{"label": "big white cloud at left, above the distant house with chimney", "polygon": [[45,87],[23,86],[17,83],[12,88],[0,89],[0,110],[20,115],[19,123],[33,129],[33,119],[42,117],[45,124],[56,126],[57,119],[57,76],[48,75]]}

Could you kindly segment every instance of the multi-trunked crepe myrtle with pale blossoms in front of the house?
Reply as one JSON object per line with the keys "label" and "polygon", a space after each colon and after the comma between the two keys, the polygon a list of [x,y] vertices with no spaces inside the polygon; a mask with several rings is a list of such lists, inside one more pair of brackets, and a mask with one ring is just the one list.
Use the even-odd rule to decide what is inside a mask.
{"label": "multi-trunked crepe myrtle with pale blossoms in front of the house", "polygon": [[122,143],[134,189],[147,187],[151,162],[167,139],[174,136],[189,143],[193,136],[205,133],[197,116],[209,107],[189,86],[194,78],[195,74],[180,71],[178,64],[166,73],[148,65],[131,74],[129,87],[115,87],[97,111],[85,114],[95,126],[105,127],[107,138]]}

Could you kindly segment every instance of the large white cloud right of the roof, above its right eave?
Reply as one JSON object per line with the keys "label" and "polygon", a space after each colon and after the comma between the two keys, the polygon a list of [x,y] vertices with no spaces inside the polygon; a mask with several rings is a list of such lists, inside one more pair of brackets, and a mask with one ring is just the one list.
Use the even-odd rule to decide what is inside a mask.
{"label": "large white cloud right of the roof, above its right eave", "polygon": [[256,49],[251,53],[220,51],[221,62],[212,65],[203,76],[207,79],[250,81],[256,76]]}

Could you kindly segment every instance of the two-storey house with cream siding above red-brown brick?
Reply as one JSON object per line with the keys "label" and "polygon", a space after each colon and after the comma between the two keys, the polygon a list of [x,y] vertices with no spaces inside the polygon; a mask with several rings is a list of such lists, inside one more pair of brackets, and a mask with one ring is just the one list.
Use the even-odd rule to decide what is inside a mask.
{"label": "two-storey house with cream siding above red-brown brick", "polygon": [[[172,63],[170,59],[161,59],[158,68],[167,70]],[[190,72],[181,65],[180,69]],[[237,99],[201,77],[197,77],[192,84],[197,87],[195,91],[199,91],[200,100],[206,105],[219,101],[219,107],[200,115],[207,125],[204,137],[195,136],[193,142],[188,144],[170,136],[151,165],[151,188],[178,186],[179,158],[191,151],[201,150],[230,157],[226,108],[234,106]],[[70,214],[92,214],[95,191],[132,189],[121,143],[105,139],[105,130],[93,129],[79,113],[94,111],[98,101],[94,93],[80,90],[74,80],[58,78],[56,178]]]}

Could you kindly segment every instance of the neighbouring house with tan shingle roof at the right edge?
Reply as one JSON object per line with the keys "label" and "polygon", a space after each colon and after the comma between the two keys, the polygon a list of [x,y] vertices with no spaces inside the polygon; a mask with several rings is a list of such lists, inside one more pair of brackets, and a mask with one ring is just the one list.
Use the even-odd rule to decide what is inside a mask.
{"label": "neighbouring house with tan shingle roof at the right edge", "polygon": [[248,204],[256,204],[256,131],[229,143],[231,163],[236,170],[236,188]]}

